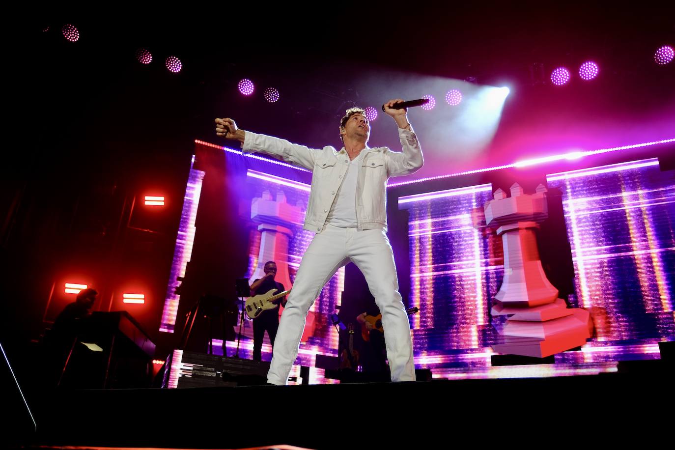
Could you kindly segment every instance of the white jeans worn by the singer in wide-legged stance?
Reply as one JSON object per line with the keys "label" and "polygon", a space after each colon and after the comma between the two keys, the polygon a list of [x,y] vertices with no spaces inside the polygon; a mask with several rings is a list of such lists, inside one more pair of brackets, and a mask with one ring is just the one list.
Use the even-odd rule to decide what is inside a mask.
{"label": "white jeans worn by the singer in wide-legged stance", "polygon": [[309,308],[340,267],[354,262],[365,276],[382,313],[391,381],[415,381],[408,314],[398,293],[394,253],[382,229],[325,225],[302,256],[288,303],[281,314],[267,381],[285,385],[298,356]]}

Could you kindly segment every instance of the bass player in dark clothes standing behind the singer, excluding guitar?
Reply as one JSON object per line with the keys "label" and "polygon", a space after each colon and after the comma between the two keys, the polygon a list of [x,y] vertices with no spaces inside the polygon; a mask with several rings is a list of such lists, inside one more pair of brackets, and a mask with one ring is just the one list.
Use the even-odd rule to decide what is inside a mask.
{"label": "bass player in dark clothes standing behind the singer, excluding guitar", "polygon": [[[255,296],[257,293],[266,293],[270,289],[277,289],[274,292],[274,295],[284,291],[284,285],[278,281],[274,281],[274,277],[277,276],[277,263],[274,261],[265,262],[265,276],[263,278],[256,279],[253,281],[253,284],[250,285],[251,296]],[[261,350],[263,349],[263,338],[265,337],[265,331],[269,336],[269,342],[274,348],[274,339],[277,337],[277,329],[279,329],[279,304],[281,306],[286,306],[286,297],[279,298],[275,300],[274,303],[277,304],[276,308],[264,310],[261,314],[253,319],[253,360],[261,361]]]}

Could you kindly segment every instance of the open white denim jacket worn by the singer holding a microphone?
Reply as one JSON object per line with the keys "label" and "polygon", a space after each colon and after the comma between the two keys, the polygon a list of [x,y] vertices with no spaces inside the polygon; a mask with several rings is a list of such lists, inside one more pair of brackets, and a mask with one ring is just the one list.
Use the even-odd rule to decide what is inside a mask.
{"label": "open white denim jacket worn by the singer holding a microphone", "polygon": [[[414,173],[424,159],[417,136],[399,128],[398,136],[403,152],[387,147],[365,148],[356,182],[356,224],[359,229],[387,229],[387,179]],[[287,163],[312,171],[312,188],[304,217],[304,229],[319,233],[326,223],[328,212],[338,194],[349,165],[349,156],[342,147],[338,152],[332,146],[322,150],[292,144],[288,140],[246,132],[244,153],[261,152],[283,159]]]}

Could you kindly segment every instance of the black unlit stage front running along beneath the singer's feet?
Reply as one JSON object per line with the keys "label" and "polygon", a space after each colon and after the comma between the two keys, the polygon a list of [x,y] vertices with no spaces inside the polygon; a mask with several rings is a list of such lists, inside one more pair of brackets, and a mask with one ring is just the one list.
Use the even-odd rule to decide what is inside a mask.
{"label": "black unlit stage front running along beneath the singer's feet", "polygon": [[[664,361],[659,361],[664,363]],[[309,449],[662,441],[672,366],[594,376],[33,392],[7,445]],[[11,432],[10,432],[11,433]],[[45,447],[43,447],[45,448]]]}

